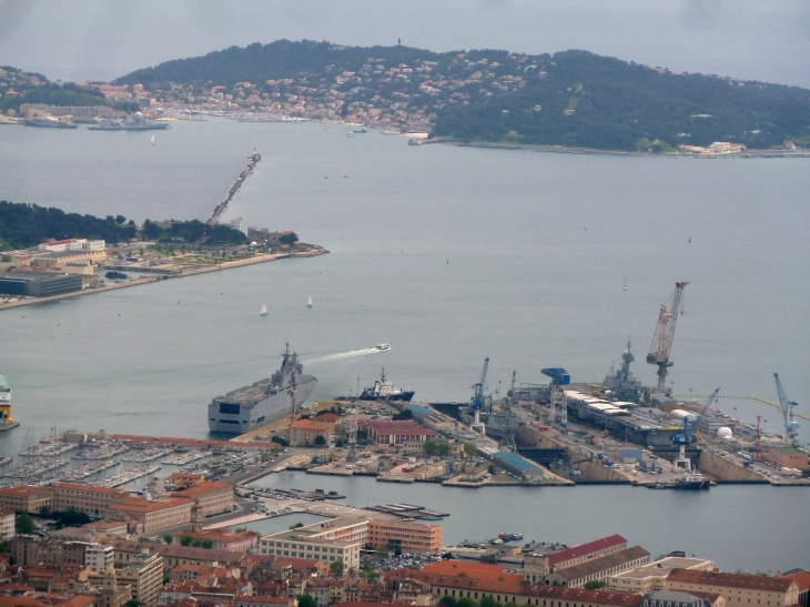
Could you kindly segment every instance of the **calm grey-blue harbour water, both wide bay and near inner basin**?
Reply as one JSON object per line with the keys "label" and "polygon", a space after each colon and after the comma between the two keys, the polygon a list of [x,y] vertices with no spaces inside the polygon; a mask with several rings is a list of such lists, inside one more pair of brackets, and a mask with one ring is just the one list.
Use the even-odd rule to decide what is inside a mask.
{"label": "calm grey-blue harbour water, both wide bay and near inner basin", "polygon": [[[204,219],[255,148],[263,160],[225,219],[295,230],[332,253],[0,312],[0,368],[22,422],[0,436],[9,452],[53,425],[204,436],[210,399],[267,376],[286,341],[318,377],[314,398],[345,394],[357,377],[371,385],[385,366],[417,398],[460,401],[485,356],[490,392],[506,390],[513,370],[518,382],[543,381],[546,366],[600,381],[628,335],[644,360],[658,305],[682,280],[676,393],[720,386],[774,401],[778,371],[807,404],[807,160],[416,148],[377,132],[346,138],[341,127],[222,120],[175,122],[156,145],[149,136],[0,128],[0,199],[139,222]],[[355,352],[381,342],[392,350]],[[654,367],[635,368],[654,382]],[[721,407],[779,428],[767,405]],[[305,488],[308,477],[294,478]],[[567,543],[618,530],[654,553],[699,550],[723,568],[810,566],[797,533],[806,492],[453,497],[356,483],[355,503],[408,490],[409,502],[448,509],[454,540],[513,526]]]}

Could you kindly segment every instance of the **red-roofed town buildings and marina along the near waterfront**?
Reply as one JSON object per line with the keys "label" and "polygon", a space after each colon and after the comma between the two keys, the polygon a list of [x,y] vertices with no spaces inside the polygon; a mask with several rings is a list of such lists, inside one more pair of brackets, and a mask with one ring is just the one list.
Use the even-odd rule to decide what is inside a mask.
{"label": "red-roofed town buildings and marina along the near waterfront", "polygon": [[[567,545],[565,538],[538,540],[505,532],[448,545],[441,520],[453,513],[411,504],[356,507],[336,492],[256,484],[265,474],[320,457],[317,449],[293,446],[317,443],[324,436],[317,431],[337,421],[330,413],[320,417],[290,424],[286,438],[277,442],[69,432],[29,448],[29,457],[73,453],[101,463],[125,454],[123,461],[134,463],[185,465],[150,475],[136,493],[71,482],[77,476],[63,472],[48,482],[29,477],[28,484],[0,489],[0,601],[26,607],[495,607],[540,601],[548,607],[571,601],[584,607],[742,607],[750,595],[760,605],[807,605],[810,574],[798,568],[774,575],[723,571],[709,554],[674,549],[656,556],[618,534]],[[378,457],[418,442],[409,428],[409,441],[383,447],[388,438],[384,426],[365,427],[374,438],[364,448]],[[423,443],[428,451],[429,441]],[[296,523],[301,515],[317,520]],[[279,530],[249,529],[276,518],[285,522]]]}

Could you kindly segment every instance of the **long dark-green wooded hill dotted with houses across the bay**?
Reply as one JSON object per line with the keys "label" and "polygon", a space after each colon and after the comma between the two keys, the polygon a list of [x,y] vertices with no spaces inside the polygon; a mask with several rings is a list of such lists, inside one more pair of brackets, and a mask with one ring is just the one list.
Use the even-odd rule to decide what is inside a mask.
{"label": "long dark-green wooded hill dotted with houses across the bay", "polygon": [[432,127],[432,136],[465,141],[656,151],[713,141],[810,144],[806,89],[677,74],[578,50],[434,53],[280,40],[169,61],[114,83],[142,83],[165,100],[213,101],[219,88],[256,109],[277,100],[297,111],[285,100],[298,98],[350,119]]}

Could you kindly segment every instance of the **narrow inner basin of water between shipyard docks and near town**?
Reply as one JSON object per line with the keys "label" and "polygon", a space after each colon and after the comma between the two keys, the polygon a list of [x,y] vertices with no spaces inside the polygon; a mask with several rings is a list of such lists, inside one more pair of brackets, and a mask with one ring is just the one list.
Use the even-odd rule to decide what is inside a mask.
{"label": "narrow inner basin of water between shipyard docks and near town", "polygon": [[[687,556],[712,559],[723,571],[770,569],[772,575],[777,570],[806,567],[810,557],[803,534],[782,534],[776,520],[755,523],[771,520],[774,492],[780,494],[784,519],[802,520],[807,489],[800,487],[789,488],[786,494],[782,489],[745,485],[715,487],[709,492],[656,492],[605,485],[464,489],[303,472],[273,474],[255,485],[336,490],[346,496],[341,504],[362,508],[406,503],[448,513],[439,523],[447,546],[465,539],[482,542],[502,532],[519,532],[524,542],[560,542],[570,546],[618,533],[627,538],[629,546],[646,548],[651,558],[684,550]],[[732,505],[738,500],[745,502],[746,507],[735,508]],[[254,525],[260,532],[264,532],[262,525],[276,532],[298,518],[301,515],[290,515],[283,517],[283,524],[270,519]]]}

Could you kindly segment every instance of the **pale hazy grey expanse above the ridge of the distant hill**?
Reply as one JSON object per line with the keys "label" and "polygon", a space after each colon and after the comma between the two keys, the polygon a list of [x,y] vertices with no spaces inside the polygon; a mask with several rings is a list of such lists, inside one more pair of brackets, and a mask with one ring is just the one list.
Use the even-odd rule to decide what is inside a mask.
{"label": "pale hazy grey expanse above the ridge of the distant hill", "polygon": [[802,0],[0,0],[0,64],[51,80],[109,81],[283,38],[361,47],[402,39],[438,52],[583,49],[675,71],[810,88],[810,3]]}

